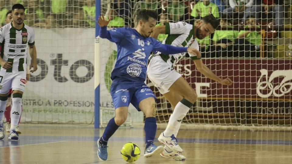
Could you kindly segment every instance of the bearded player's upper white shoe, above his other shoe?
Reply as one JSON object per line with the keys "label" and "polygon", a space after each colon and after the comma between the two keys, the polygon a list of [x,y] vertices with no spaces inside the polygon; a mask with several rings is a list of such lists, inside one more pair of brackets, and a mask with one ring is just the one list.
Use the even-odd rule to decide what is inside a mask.
{"label": "bearded player's upper white shoe, above his other shoe", "polygon": [[177,139],[174,135],[165,137],[162,132],[158,137],[158,141],[169,147],[169,149],[174,152],[183,152],[182,148],[177,144]]}

